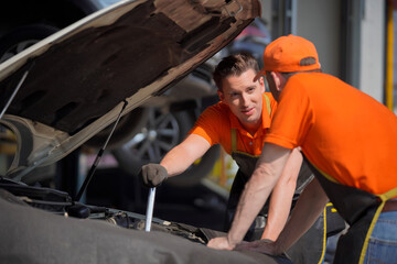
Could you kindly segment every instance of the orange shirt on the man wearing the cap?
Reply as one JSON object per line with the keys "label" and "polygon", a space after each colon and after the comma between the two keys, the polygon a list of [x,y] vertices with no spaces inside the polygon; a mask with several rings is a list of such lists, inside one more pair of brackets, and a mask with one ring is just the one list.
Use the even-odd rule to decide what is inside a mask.
{"label": "orange shirt on the man wearing the cap", "polygon": [[326,74],[287,81],[266,142],[301,146],[343,185],[372,194],[397,187],[397,118],[368,95]]}

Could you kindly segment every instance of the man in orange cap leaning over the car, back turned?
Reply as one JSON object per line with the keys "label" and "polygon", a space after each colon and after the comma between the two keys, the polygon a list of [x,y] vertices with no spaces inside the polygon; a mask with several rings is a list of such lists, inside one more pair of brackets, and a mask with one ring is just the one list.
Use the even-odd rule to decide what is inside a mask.
{"label": "man in orange cap leaning over the car, back turned", "polygon": [[[256,78],[266,74],[278,109],[227,238],[216,238],[208,246],[280,254],[311,227],[330,199],[350,224],[339,240],[334,263],[396,263],[396,116],[322,74],[314,45],[303,37],[277,38],[266,47],[264,62]],[[240,243],[291,150],[299,146],[315,178],[276,242]]]}

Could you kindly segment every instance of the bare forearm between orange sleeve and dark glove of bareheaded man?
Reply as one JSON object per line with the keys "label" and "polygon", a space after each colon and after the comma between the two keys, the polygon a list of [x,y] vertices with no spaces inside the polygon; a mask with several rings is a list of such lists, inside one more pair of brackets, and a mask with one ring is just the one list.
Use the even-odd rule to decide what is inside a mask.
{"label": "bare forearm between orange sleeve and dark glove of bareheaded man", "polygon": [[160,165],[165,167],[169,176],[179,175],[202,157],[210,147],[210,143],[203,136],[190,134],[182,143],[167,153]]}

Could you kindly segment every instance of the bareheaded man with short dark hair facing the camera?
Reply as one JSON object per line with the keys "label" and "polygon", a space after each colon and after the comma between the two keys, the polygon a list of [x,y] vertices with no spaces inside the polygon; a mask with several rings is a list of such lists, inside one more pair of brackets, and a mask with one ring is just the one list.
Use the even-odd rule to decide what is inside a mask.
{"label": "bareheaded man with short dark hair facing the camera", "polygon": [[[200,116],[186,139],[172,148],[160,164],[144,165],[140,172],[143,184],[155,187],[169,176],[183,173],[212,145],[221,144],[239,167],[227,205],[225,231],[228,231],[239,196],[254,172],[277,108],[271,94],[265,92],[264,79],[260,77],[254,81],[258,70],[257,62],[248,54],[223,58],[214,72],[221,102],[208,107]],[[292,151],[272,191],[269,207],[257,213],[261,221],[251,219],[251,230],[246,239],[277,239],[290,212],[301,163],[299,151]],[[265,230],[264,227],[255,229],[255,222],[264,223],[262,217],[267,215]]]}

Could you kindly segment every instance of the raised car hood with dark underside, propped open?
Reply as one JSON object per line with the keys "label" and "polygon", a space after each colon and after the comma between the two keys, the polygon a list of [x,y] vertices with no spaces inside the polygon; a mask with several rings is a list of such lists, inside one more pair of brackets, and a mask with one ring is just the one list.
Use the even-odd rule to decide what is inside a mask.
{"label": "raised car hood with dark underside, propped open", "polygon": [[8,176],[20,179],[61,160],[124,107],[126,114],[183,78],[259,14],[258,0],[121,1],[4,62],[0,122],[18,142]]}

